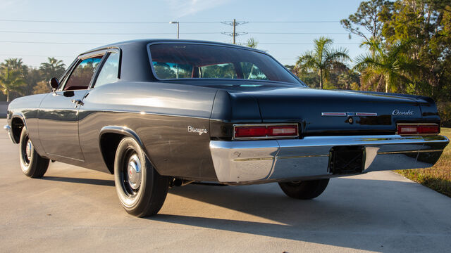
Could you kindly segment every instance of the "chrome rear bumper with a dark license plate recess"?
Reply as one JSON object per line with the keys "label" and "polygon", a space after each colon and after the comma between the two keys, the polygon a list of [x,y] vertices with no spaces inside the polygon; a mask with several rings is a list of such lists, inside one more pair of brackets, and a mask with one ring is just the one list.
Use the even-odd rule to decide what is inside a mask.
{"label": "chrome rear bumper with a dark license plate recess", "polygon": [[218,181],[264,183],[335,176],[328,167],[330,150],[338,146],[362,147],[362,173],[431,167],[448,142],[445,136],[310,136],[210,141],[210,151]]}

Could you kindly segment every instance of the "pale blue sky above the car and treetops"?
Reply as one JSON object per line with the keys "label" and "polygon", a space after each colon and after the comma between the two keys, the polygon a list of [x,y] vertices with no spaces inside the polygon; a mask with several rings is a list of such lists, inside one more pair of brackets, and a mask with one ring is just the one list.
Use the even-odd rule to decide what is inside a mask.
{"label": "pale blue sky above the car and treetops", "polygon": [[[237,43],[254,38],[258,48],[284,65],[313,48],[313,40],[326,36],[335,47],[349,50],[351,58],[364,53],[362,39],[352,36],[340,20],[357,11],[360,0],[151,0],[151,1],[50,1],[0,0],[0,62],[22,58],[39,67],[47,57],[66,65],[78,54],[117,41],[144,38],[232,42],[238,23]],[[288,34],[287,34],[288,33]],[[350,63],[352,65],[352,63]]]}

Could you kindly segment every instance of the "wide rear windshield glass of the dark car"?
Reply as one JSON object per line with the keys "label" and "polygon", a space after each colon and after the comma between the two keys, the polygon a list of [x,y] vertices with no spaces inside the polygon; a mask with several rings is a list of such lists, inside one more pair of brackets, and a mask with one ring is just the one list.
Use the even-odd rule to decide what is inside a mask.
{"label": "wide rear windshield glass of the dark car", "polygon": [[159,79],[248,79],[299,84],[273,58],[257,51],[199,44],[154,44],[150,55]]}

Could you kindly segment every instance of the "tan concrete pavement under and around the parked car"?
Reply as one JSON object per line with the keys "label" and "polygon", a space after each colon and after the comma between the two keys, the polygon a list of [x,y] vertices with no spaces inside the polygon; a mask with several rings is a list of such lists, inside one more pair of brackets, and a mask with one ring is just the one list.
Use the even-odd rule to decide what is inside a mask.
{"label": "tan concrete pavement under and around the parked car", "polygon": [[331,179],[308,201],[275,183],[183,186],[157,216],[139,219],[109,174],[55,162],[29,179],[4,133],[0,161],[0,252],[451,250],[451,198],[391,171]]}

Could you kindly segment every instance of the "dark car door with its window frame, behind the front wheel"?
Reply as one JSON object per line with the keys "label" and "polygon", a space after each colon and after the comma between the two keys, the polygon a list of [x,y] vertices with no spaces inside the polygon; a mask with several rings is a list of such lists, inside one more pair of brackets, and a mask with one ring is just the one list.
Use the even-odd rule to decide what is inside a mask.
{"label": "dark car door with its window frame, behind the front wheel", "polygon": [[78,110],[103,56],[104,52],[99,52],[79,57],[60,87],[42,100],[39,139],[50,158],[85,160],[78,137]]}

